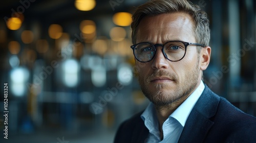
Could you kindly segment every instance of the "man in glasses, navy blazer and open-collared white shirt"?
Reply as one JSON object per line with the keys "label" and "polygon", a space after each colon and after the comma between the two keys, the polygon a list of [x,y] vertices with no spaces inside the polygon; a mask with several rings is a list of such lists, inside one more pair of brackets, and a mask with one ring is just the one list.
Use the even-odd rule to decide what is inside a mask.
{"label": "man in glasses, navy blazer and open-collared white shirt", "polygon": [[256,142],[256,118],[202,82],[211,53],[205,12],[185,0],[153,0],[137,8],[131,27],[151,104],[122,123],[115,142]]}

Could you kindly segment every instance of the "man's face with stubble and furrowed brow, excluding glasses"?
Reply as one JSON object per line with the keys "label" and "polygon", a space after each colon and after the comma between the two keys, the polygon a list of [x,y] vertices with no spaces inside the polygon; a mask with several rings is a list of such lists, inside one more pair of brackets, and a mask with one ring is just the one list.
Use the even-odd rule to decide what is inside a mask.
{"label": "man's face with stubble and furrowed brow, excluding glasses", "polygon": [[[193,19],[183,12],[147,16],[140,21],[136,42],[164,44],[180,40],[195,43],[193,28]],[[156,55],[150,62],[136,60],[140,68],[138,76],[142,92],[155,105],[167,105],[186,98],[201,81],[197,47],[188,45],[185,57],[177,62],[167,60],[161,46],[156,49]]]}

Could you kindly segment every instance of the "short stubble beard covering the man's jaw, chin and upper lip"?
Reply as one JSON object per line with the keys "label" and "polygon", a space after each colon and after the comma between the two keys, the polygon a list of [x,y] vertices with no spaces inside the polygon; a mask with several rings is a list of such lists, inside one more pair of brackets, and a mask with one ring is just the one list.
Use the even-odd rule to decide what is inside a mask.
{"label": "short stubble beard covering the man's jaw, chin and upper lip", "polygon": [[[139,74],[139,83],[144,96],[150,100],[153,104],[157,106],[164,106],[172,104],[180,99],[183,99],[188,96],[188,94],[193,91],[198,83],[200,69],[198,69],[199,62],[194,67],[192,71],[185,75],[185,81],[181,81],[177,78],[176,75],[169,73],[166,70],[158,69],[145,77],[145,75]],[[176,88],[170,92],[164,92],[168,88],[168,84],[155,83],[156,91],[152,91],[149,88],[149,84],[152,78],[154,77],[168,77],[173,80]]]}

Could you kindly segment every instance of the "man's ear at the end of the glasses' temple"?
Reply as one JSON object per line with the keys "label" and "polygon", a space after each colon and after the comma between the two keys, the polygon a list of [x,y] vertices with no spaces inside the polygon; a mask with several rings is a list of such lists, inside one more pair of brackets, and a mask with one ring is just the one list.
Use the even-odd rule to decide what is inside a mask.
{"label": "man's ear at the end of the glasses' temple", "polygon": [[211,48],[209,46],[205,46],[203,47],[203,49],[201,49],[201,55],[200,55],[200,69],[201,70],[205,70],[210,62],[210,52],[211,52]]}

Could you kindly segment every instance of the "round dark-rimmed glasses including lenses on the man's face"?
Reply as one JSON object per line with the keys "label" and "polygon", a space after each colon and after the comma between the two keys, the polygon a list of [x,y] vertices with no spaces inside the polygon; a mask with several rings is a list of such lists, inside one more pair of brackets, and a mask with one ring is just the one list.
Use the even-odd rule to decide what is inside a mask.
{"label": "round dark-rimmed glasses including lenses on the man's face", "polygon": [[162,52],[166,59],[169,61],[177,62],[182,60],[187,51],[188,45],[197,45],[204,47],[203,44],[189,43],[183,41],[168,41],[164,44],[152,44],[150,42],[141,42],[132,45],[133,54],[135,58],[140,62],[149,62],[156,55],[156,47],[162,46]]}

